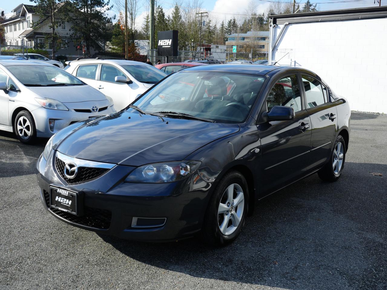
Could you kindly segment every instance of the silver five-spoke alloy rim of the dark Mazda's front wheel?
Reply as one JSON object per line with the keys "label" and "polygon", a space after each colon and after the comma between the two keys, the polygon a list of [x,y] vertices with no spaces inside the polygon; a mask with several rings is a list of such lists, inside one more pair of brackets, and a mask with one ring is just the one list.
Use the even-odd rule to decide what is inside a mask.
{"label": "silver five-spoke alloy rim of the dark Mazda's front wheel", "polygon": [[235,232],[242,220],[245,209],[245,196],[241,186],[231,184],[224,191],[218,207],[218,226],[222,234],[228,236]]}

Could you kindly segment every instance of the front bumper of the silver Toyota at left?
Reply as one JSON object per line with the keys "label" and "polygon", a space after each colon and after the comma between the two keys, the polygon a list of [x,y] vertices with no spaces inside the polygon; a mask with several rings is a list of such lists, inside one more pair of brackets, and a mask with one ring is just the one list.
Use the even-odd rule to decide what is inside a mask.
{"label": "front bumper of the silver Toyota at left", "polygon": [[[103,101],[105,103],[105,101]],[[91,108],[97,102],[83,102],[86,104],[82,104],[82,107]],[[108,103],[106,101],[106,103]],[[98,103],[97,103],[98,104]],[[98,104],[99,105],[99,104]],[[103,107],[104,105],[99,105]],[[68,111],[62,110],[50,110],[45,109],[43,107],[39,107],[31,112],[34,117],[35,126],[36,126],[36,136],[37,137],[46,137],[50,138],[56,132],[60,131],[64,127],[68,125],[89,119],[90,117],[98,116],[98,115],[106,115],[115,112],[114,106],[108,105],[108,109],[103,110],[101,112],[96,113],[84,113],[84,112],[75,112],[73,109],[69,109]],[[50,130],[49,119],[55,120],[55,125],[53,131]]]}

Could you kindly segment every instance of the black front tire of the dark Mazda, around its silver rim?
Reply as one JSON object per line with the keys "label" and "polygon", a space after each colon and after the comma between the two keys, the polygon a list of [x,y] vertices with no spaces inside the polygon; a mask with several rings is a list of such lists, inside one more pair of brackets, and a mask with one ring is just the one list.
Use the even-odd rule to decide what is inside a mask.
{"label": "black front tire of the dark Mazda, around its silver rim", "polygon": [[[244,197],[244,205],[243,205],[243,212],[241,214],[240,222],[236,229],[228,235],[225,235],[221,232],[219,228],[219,215],[218,215],[218,208],[219,204],[221,202],[221,198],[223,197],[223,194],[225,193],[226,189],[233,184],[237,184],[240,186],[240,188],[243,190],[243,197]],[[234,195],[236,193],[234,192]],[[205,243],[208,243],[212,246],[224,246],[226,244],[229,244],[233,242],[236,237],[241,232],[241,229],[245,225],[246,215],[248,211],[248,186],[247,181],[245,177],[238,171],[231,171],[227,173],[223,178],[219,181],[217,184],[214,193],[211,196],[211,200],[209,201],[209,205],[207,207],[207,210],[205,212],[204,217],[204,224],[202,228],[202,237],[205,241]],[[236,213],[236,210],[239,208],[238,206],[234,209],[234,214]],[[231,217],[231,214],[229,214]],[[225,217],[225,215],[224,215]],[[231,223],[233,223],[232,219],[230,218]]]}

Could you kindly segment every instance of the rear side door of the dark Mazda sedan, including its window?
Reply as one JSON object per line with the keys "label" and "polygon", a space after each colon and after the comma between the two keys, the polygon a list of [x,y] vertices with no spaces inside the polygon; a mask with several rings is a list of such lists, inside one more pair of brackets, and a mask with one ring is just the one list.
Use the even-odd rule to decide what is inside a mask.
{"label": "rear side door of the dark Mazda sedan, including its window", "polygon": [[337,109],[330,102],[329,92],[324,84],[304,73],[301,73],[301,80],[312,129],[310,163],[313,168],[317,168],[327,161],[332,152],[336,137]]}

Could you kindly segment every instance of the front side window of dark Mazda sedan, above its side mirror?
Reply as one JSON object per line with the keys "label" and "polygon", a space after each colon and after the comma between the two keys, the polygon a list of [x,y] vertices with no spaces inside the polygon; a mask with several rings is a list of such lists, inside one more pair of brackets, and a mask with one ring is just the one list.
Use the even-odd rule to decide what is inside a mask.
{"label": "front side window of dark Mazda sedan, above its side mirror", "polygon": [[267,111],[274,106],[292,107],[295,112],[301,111],[301,94],[297,75],[289,75],[278,80],[266,99]]}

